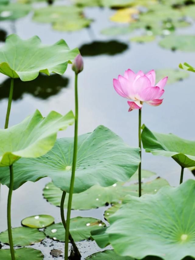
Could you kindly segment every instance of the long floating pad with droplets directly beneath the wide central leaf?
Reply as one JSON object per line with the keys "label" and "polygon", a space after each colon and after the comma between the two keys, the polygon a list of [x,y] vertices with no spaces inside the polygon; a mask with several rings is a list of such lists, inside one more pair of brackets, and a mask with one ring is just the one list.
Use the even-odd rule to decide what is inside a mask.
{"label": "long floating pad with droplets directly beneath the wide central leaf", "polygon": [[[142,180],[144,180],[144,173],[148,171],[142,170]],[[137,176],[138,174],[134,174]],[[132,178],[134,178],[134,175]],[[132,179],[133,180],[133,179]],[[131,179],[129,181],[132,181]],[[143,183],[142,193],[156,193],[161,187],[168,185],[168,182],[164,179],[158,178],[151,182]],[[132,194],[138,196],[138,183],[131,185],[123,182],[114,183],[109,187],[101,187],[99,185],[94,185],[86,191],[79,194],[73,194],[72,209],[86,210],[91,208],[99,208],[109,204],[116,204],[118,201],[122,200],[126,194]],[[60,206],[62,191],[57,188],[52,182],[47,183],[44,191],[44,198],[48,202],[55,206]],[[90,200],[89,200],[90,198]],[[85,201],[85,203],[83,203]],[[64,206],[67,207],[68,204],[68,194],[66,194]]]}

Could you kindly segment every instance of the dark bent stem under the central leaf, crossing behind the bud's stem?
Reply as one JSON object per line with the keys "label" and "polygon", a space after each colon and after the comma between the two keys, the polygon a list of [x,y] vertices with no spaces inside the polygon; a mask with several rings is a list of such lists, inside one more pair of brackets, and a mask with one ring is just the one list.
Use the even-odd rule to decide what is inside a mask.
{"label": "dark bent stem under the central leaf, crossing behind the bud's stem", "polygon": [[[60,203],[60,213],[61,213],[61,220],[62,220],[62,224],[64,226],[64,229],[66,230],[66,221],[64,218],[64,201],[65,201],[65,197],[66,197],[66,192],[63,191],[62,193],[62,198],[61,198],[61,203]],[[81,254],[75,244],[74,239],[71,236],[71,233],[69,232],[69,240],[72,244],[72,248],[73,248],[73,252],[72,252],[72,259],[81,259]]]}

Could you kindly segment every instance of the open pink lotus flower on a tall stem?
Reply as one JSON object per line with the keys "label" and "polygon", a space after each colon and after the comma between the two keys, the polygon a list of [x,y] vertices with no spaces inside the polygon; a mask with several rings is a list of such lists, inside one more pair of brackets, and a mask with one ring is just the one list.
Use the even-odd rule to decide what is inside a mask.
{"label": "open pink lotus flower on a tall stem", "polygon": [[113,85],[121,97],[134,100],[127,101],[130,112],[133,109],[141,109],[143,102],[152,106],[162,104],[163,99],[159,98],[165,92],[163,88],[167,79],[168,77],[165,77],[155,85],[156,73],[154,69],[146,74],[141,70],[134,73],[131,69],[127,69],[124,77],[119,75],[118,79],[113,79]]}

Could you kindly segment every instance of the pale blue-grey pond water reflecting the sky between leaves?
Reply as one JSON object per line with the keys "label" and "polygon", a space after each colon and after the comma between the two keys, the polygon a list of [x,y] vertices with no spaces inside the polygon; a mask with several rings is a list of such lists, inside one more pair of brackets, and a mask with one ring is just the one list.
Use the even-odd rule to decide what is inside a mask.
{"label": "pale blue-grey pond water reflecting the sky between leaves", "polygon": [[[91,27],[72,33],[57,32],[52,30],[49,24],[32,22],[32,14],[14,23],[1,22],[0,28],[7,34],[14,32],[23,39],[38,35],[42,42],[47,44],[53,44],[63,38],[70,48],[80,48],[84,55],[84,71],[79,74],[78,81],[79,134],[91,132],[98,125],[103,124],[122,137],[127,144],[136,147],[138,146],[138,111],[128,113],[127,100],[117,95],[113,89],[113,78],[123,74],[128,68],[147,72],[151,69],[177,68],[180,62],[194,64],[195,52],[168,51],[160,48],[156,41],[146,44],[130,43],[129,35],[107,37],[100,34],[102,29],[113,25],[108,19],[113,12],[106,8],[87,8],[85,14],[94,19]],[[194,29],[193,25],[178,32],[193,34]],[[4,127],[7,108],[9,80],[6,80],[7,77],[0,74],[1,128]],[[190,77],[184,81],[167,85],[162,105],[158,107],[144,105],[142,123],[157,132],[171,132],[182,138],[194,140],[195,112],[192,109],[194,92],[195,73],[190,73]],[[74,110],[74,73],[71,66],[64,77],[39,76],[33,82],[16,82],[9,125],[19,123],[35,109],[39,109],[44,116],[51,109],[61,114]],[[58,136],[73,136],[73,130],[71,126],[65,132],[60,132]],[[143,152],[142,168],[156,172],[173,186],[179,184],[180,167],[172,158],[154,157],[150,153]],[[188,178],[194,179],[191,172],[185,169],[184,180]],[[20,226],[21,219],[38,214],[52,215],[56,223],[61,221],[59,208],[50,205],[42,196],[43,188],[49,181],[49,178],[44,178],[36,183],[27,182],[13,192],[12,227]],[[0,231],[7,229],[5,214],[7,194],[8,188],[1,186]],[[73,210],[71,217],[90,216],[104,220],[104,210],[105,207],[88,211]],[[44,246],[51,244],[49,249]],[[82,248],[83,259],[99,250],[95,242],[84,241],[77,244]],[[50,259],[52,258],[49,254],[50,250],[53,248],[63,250],[64,244],[44,240],[42,244],[33,247],[42,250],[46,255],[44,259]]]}

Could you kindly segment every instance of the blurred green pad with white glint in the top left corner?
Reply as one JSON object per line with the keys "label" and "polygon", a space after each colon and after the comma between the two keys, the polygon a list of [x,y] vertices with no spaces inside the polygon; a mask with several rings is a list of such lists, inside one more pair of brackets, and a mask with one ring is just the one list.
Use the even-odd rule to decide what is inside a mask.
{"label": "blurred green pad with white glint in the top left corner", "polygon": [[0,5],[0,21],[1,20],[16,20],[26,16],[32,7],[19,3],[10,3],[9,5]]}

